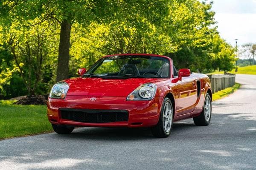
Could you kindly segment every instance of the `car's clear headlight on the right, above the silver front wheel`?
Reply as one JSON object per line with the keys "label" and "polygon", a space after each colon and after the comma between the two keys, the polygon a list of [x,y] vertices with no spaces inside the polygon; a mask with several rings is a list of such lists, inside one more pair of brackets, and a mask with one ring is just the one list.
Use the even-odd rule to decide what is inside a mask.
{"label": "car's clear headlight on the right, above the silver front wheel", "polygon": [[136,88],[131,94],[129,94],[126,100],[151,100],[156,95],[157,85],[153,83],[146,83]]}

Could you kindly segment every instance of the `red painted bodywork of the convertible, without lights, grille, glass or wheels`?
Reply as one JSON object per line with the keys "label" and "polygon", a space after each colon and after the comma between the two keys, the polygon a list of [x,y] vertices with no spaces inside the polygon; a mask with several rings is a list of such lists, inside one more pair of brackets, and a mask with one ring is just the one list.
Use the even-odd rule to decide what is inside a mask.
{"label": "red painted bodywork of the convertible, without lights, grille, glass or wheels", "polygon": [[[209,78],[204,74],[174,77],[172,59],[154,54],[118,54],[165,57],[170,62],[169,78],[72,78],[64,80],[70,86],[65,99],[48,98],[47,116],[52,124],[87,127],[151,127],[157,124],[163,99],[172,98],[174,121],[198,116],[204,106],[207,91],[211,95]],[[116,55],[110,55],[116,56]],[[105,56],[105,57],[110,57]],[[150,101],[127,101],[126,98],[138,86],[148,82],[157,85],[154,99]],[[200,88],[199,88],[200,86]],[[96,97],[95,101],[90,100]],[[128,111],[128,121],[87,123],[62,119],[60,109],[100,109]]]}

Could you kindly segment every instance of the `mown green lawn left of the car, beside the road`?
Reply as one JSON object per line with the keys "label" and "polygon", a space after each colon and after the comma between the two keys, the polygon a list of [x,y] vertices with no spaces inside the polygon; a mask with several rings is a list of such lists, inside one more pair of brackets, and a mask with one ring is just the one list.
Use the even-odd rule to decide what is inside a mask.
{"label": "mown green lawn left of the car, beside the road", "polygon": [[13,105],[0,100],[0,139],[51,132],[45,105]]}

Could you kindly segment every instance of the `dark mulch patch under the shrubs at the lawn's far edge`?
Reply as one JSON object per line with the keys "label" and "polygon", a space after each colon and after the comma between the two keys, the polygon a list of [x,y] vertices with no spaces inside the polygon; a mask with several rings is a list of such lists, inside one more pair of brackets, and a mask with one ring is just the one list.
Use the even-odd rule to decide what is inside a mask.
{"label": "dark mulch patch under the shrubs at the lawn's far edge", "polygon": [[12,98],[17,100],[16,105],[46,105],[48,95],[19,96]]}

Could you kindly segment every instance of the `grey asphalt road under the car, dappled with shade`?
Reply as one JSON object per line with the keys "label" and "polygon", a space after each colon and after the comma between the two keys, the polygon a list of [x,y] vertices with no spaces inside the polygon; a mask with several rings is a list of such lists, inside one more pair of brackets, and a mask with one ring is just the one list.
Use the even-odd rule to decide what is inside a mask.
{"label": "grey asphalt road under the car, dappled with shade", "polygon": [[256,170],[256,76],[213,103],[212,121],[174,124],[169,138],[148,129],[80,128],[0,141],[1,170]]}

